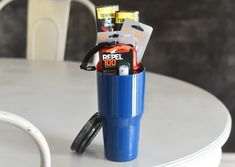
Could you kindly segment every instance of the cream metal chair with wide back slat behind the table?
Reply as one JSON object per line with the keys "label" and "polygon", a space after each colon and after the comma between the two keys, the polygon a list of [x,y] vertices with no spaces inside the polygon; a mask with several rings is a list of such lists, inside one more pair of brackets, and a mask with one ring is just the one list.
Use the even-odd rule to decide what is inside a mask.
{"label": "cream metal chair with wide back slat behind the table", "polygon": [[[0,1],[0,10],[14,0]],[[63,61],[72,0],[29,0],[27,59]],[[89,0],[73,0],[85,5],[95,18]]]}

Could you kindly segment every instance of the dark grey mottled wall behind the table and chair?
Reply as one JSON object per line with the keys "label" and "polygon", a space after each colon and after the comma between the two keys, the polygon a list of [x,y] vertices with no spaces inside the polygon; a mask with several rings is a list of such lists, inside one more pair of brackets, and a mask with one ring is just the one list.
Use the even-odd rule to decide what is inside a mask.
{"label": "dark grey mottled wall behind the table and chair", "polygon": [[[234,0],[93,0],[139,10],[154,33],[146,51],[147,70],[198,85],[221,99],[235,116]],[[27,1],[0,13],[0,56],[25,57]],[[72,4],[65,60],[82,60],[95,43],[92,16]],[[235,151],[235,133],[224,146]]]}

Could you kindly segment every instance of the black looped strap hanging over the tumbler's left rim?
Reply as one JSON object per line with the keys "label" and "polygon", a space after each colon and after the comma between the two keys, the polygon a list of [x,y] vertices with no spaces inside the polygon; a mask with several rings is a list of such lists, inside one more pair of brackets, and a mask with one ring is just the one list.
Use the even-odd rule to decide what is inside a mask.
{"label": "black looped strap hanging over the tumbler's left rim", "polygon": [[93,49],[91,49],[87,55],[84,57],[82,64],[80,65],[80,68],[86,71],[94,71],[96,70],[95,66],[87,66],[90,58],[92,56],[94,56],[94,54],[96,52],[98,52],[101,48],[103,48],[104,46],[112,46],[114,45],[116,42],[104,42],[104,43],[99,43],[98,45],[96,45]]}

